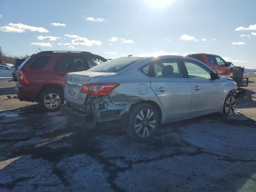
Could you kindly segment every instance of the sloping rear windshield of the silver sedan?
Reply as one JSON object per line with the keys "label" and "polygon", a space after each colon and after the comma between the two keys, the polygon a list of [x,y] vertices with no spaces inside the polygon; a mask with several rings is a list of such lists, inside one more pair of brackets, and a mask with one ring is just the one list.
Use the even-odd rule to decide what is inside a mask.
{"label": "sloping rear windshield of the silver sedan", "polygon": [[94,66],[90,68],[88,71],[93,72],[118,72],[129,65],[141,60],[142,58],[138,57],[121,57],[116,58],[107,62],[104,62],[102,64],[99,64],[97,66]]}

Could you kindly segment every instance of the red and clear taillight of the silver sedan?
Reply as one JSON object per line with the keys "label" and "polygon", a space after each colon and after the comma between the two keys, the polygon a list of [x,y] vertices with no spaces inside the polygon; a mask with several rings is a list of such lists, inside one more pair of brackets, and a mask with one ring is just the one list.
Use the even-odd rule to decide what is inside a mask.
{"label": "red and clear taillight of the silver sedan", "polygon": [[82,93],[91,94],[91,95],[104,95],[108,96],[108,93],[114,88],[118,87],[119,83],[92,83],[84,84],[81,89]]}

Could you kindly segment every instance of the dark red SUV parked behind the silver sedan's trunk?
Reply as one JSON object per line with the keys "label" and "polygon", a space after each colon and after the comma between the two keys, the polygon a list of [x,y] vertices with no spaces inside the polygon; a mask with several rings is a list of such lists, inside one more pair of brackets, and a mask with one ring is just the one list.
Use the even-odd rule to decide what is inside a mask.
{"label": "dark red SUV parked behind the silver sedan's trunk", "polygon": [[68,72],[84,71],[107,61],[90,52],[43,51],[34,54],[18,69],[16,92],[21,101],[38,102],[46,111],[60,109]]}

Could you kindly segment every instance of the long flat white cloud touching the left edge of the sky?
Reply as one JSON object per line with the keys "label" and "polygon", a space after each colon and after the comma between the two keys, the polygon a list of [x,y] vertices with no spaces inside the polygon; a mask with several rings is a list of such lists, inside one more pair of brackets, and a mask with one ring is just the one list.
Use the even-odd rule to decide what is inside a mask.
{"label": "long flat white cloud touching the left edge of the sky", "polygon": [[40,32],[40,33],[49,32],[47,29],[43,27],[34,27],[30,25],[25,25],[22,23],[9,23],[8,26],[0,27],[0,30],[3,32],[17,32],[17,33],[22,33],[26,31]]}

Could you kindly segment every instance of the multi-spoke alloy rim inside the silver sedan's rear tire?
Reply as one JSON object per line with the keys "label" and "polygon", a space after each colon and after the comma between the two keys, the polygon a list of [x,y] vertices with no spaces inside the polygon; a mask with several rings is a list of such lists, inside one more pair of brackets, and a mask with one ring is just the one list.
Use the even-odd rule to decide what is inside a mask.
{"label": "multi-spoke alloy rim inside the silver sedan's rear tire", "polygon": [[136,134],[141,137],[147,137],[152,134],[156,127],[156,115],[150,109],[141,110],[135,120],[134,129]]}

